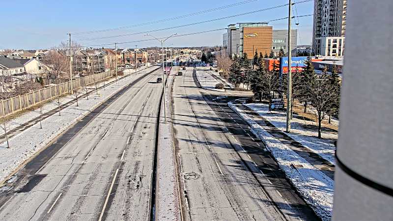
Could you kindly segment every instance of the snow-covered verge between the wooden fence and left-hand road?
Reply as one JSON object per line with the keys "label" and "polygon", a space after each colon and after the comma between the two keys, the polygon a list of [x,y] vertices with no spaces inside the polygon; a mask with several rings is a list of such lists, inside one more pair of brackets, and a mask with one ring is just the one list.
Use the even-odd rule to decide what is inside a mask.
{"label": "snow-covered verge between the wooden fence and left-hand road", "polygon": [[[35,124],[23,132],[15,135],[9,139],[10,148],[6,148],[6,142],[0,143],[0,181],[9,176],[18,166],[23,164],[28,158],[33,156],[36,152],[45,147],[51,140],[60,135],[72,124],[83,118],[90,111],[102,104],[106,99],[111,97],[121,88],[131,83],[141,76],[141,74],[154,70],[157,67],[151,67],[146,70],[141,70],[137,74],[128,75],[116,83],[107,85],[98,90],[98,95],[95,93],[89,96],[89,99],[81,98],[78,100],[79,107],[76,104],[60,111],[61,116],[54,114],[42,120],[42,129],[39,129],[39,123]],[[113,80],[112,80],[113,81]],[[108,83],[106,83],[108,84]],[[63,102],[70,100],[74,95],[69,95],[62,98]],[[57,104],[56,104],[57,105]],[[46,104],[43,106],[43,111],[49,111],[54,107],[54,104]],[[28,120],[38,116],[37,112],[27,112],[13,121],[25,123]],[[17,125],[16,125],[17,126]],[[15,127],[15,125],[14,125]]]}

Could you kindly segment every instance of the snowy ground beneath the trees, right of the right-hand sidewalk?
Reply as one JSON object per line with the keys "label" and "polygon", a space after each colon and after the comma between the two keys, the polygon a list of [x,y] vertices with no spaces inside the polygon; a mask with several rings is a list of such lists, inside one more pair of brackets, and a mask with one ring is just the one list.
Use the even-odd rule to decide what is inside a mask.
{"label": "snowy ground beneath the trees, right of the right-hand sidewalk", "polygon": [[[269,111],[268,104],[251,103],[246,104],[247,107],[256,111],[276,126],[281,131],[286,130],[286,115],[280,111]],[[334,139],[338,138],[337,132],[329,132],[322,130],[322,138],[318,139],[317,124],[314,121],[307,119],[299,119],[294,114],[291,123],[291,133],[286,133],[292,139],[298,141],[303,146],[309,148],[312,152],[318,154],[323,159],[335,164],[335,150]],[[333,120],[333,119],[332,119]],[[337,120],[335,120],[337,122]],[[337,122],[338,124],[338,122]]]}

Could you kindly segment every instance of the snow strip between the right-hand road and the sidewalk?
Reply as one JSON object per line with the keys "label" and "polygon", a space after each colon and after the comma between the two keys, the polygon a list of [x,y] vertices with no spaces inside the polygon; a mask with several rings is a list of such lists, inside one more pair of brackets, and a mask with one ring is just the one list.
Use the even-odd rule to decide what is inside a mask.
{"label": "snow strip between the right-hand road and the sidewalk", "polygon": [[331,176],[334,167],[320,156],[310,154],[308,149],[304,149],[300,143],[286,136],[241,102],[229,102],[228,106],[239,114],[250,125],[253,133],[265,143],[266,149],[272,153],[286,178],[314,212],[323,221],[330,221],[334,195],[334,181]]}

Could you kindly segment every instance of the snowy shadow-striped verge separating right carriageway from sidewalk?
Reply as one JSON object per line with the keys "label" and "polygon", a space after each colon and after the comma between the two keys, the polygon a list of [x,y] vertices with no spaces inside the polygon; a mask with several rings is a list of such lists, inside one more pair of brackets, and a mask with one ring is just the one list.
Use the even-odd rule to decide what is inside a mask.
{"label": "snowy shadow-striped verge separating right carriageway from sidewalk", "polygon": [[333,210],[334,181],[271,136],[236,105],[229,102],[228,106],[236,111],[251,126],[253,133],[265,143],[266,148],[285,172],[285,176],[315,213],[323,221],[329,221]]}

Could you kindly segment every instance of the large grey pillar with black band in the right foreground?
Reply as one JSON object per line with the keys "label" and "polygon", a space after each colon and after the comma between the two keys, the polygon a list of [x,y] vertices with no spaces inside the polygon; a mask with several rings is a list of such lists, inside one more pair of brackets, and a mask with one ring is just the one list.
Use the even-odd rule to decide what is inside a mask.
{"label": "large grey pillar with black band in the right foreground", "polygon": [[392,221],[393,1],[347,6],[333,220]]}

